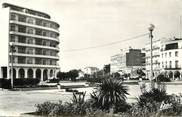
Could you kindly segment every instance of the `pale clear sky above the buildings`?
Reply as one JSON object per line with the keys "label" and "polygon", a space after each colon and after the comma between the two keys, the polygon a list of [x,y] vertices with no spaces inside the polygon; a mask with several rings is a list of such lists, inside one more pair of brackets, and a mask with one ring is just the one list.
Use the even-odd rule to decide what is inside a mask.
{"label": "pale clear sky above the buildings", "polygon": [[[121,49],[144,48],[149,24],[154,39],[180,37],[182,0],[0,0],[50,14],[60,24],[62,71],[102,68]],[[0,24],[1,25],[1,24]],[[128,39],[128,41],[126,41]],[[124,40],[122,42],[122,40]],[[100,46],[119,42],[109,46]],[[100,46],[92,49],[88,47]],[[79,49],[79,51],[72,51]]]}

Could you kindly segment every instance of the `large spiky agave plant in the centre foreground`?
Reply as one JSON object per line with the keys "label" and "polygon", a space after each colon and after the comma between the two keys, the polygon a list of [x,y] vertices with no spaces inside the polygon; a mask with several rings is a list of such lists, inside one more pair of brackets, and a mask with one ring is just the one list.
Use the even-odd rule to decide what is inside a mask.
{"label": "large spiky agave plant in the centre foreground", "polygon": [[92,105],[102,110],[117,108],[118,105],[126,104],[127,91],[128,89],[123,86],[122,81],[105,79],[96,92],[91,94]]}

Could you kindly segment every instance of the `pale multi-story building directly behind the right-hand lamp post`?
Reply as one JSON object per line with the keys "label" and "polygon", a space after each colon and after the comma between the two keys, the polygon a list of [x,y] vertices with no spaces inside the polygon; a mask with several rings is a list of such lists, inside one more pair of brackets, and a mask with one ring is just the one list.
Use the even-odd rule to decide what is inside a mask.
{"label": "pale multi-story building directly behind the right-hand lamp post", "polygon": [[[154,77],[157,76],[161,69],[160,69],[160,47],[161,47],[161,40],[154,40],[152,43],[152,61],[153,61],[153,75]],[[147,78],[150,78],[150,71],[151,71],[151,55],[150,55],[150,50],[151,50],[151,43],[147,43],[145,45],[145,53],[146,53],[146,76]]]}

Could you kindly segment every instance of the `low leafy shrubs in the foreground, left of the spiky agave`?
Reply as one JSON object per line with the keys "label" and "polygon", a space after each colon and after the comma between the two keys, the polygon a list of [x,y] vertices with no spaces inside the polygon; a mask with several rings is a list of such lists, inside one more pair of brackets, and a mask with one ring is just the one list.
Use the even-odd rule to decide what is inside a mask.
{"label": "low leafy shrubs in the foreground, left of the spiky agave", "polygon": [[37,114],[39,115],[64,115],[64,116],[80,116],[85,115],[86,110],[90,107],[90,104],[85,100],[85,93],[77,95],[73,93],[73,99],[71,102],[58,103],[44,102],[43,104],[35,105]]}

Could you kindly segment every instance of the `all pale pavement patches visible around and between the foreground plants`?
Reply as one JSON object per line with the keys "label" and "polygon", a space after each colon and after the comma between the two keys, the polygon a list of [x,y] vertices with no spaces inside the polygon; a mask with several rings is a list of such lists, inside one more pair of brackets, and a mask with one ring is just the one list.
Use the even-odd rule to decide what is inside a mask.
{"label": "all pale pavement patches visible around and between the foreground plants", "polygon": [[[93,91],[93,88],[80,88],[80,91],[87,91],[86,98]],[[130,94],[127,102],[135,102],[135,98],[141,94],[138,85],[129,85]],[[182,85],[167,85],[168,94],[182,93]],[[35,91],[0,91],[0,116],[19,116],[21,113],[33,112],[35,104],[45,101],[70,101],[72,93],[54,90]]]}

